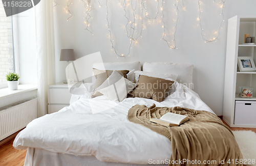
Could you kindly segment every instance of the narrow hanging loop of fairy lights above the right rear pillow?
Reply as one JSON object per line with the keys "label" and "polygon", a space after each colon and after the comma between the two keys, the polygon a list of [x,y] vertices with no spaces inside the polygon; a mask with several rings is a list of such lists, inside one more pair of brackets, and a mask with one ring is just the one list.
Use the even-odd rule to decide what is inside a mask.
{"label": "narrow hanging loop of fairy lights above the right rear pillow", "polygon": [[172,48],[172,49],[178,49],[177,47],[176,47],[176,32],[177,32],[177,25],[178,25],[178,19],[179,19],[179,0],[177,0],[177,3],[176,3],[176,0],[174,0],[174,6],[176,7],[176,14],[177,14],[177,19],[176,19],[176,25],[175,25],[175,27],[174,27],[174,33],[173,33],[173,35],[174,35],[174,40],[173,40],[173,42],[174,42],[174,45],[172,46],[171,44],[170,44],[170,42],[168,42],[166,39],[165,39],[165,36],[166,36],[166,33],[165,33],[165,22],[164,22],[164,0],[162,0],[162,7],[161,7],[161,9],[163,9],[162,10],[162,22],[163,22],[163,38],[161,39],[161,40],[164,40],[166,43],[167,43],[167,45],[168,45],[168,47],[170,47],[170,48]]}

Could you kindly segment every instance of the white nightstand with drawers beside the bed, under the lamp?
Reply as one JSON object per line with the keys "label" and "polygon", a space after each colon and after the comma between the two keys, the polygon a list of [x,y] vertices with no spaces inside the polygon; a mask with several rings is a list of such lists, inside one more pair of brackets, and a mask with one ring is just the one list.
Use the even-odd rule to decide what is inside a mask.
{"label": "white nightstand with drawers beside the bed, under the lamp", "polygon": [[68,84],[57,82],[48,86],[48,114],[58,112],[61,108],[69,106],[71,93]]}

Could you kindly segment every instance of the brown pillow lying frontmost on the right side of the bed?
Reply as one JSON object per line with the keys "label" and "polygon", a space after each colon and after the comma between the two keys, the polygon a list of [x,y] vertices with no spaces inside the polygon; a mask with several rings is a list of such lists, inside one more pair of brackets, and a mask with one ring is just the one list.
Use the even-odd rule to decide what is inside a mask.
{"label": "brown pillow lying frontmost on the right side of the bed", "polygon": [[138,86],[130,93],[131,97],[153,99],[162,102],[165,92],[174,84],[174,81],[140,75]]}

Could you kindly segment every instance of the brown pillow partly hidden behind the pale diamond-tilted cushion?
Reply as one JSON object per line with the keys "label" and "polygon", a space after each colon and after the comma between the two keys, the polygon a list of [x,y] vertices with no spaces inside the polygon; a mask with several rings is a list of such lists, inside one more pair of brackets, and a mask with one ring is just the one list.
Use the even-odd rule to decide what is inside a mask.
{"label": "brown pillow partly hidden behind the pale diamond-tilted cushion", "polygon": [[[129,73],[129,70],[116,70],[119,74],[123,75],[124,78],[127,78],[126,74]],[[97,89],[108,77],[112,74],[113,70],[98,70],[93,68],[93,73],[96,78],[94,89]],[[101,96],[99,92],[94,92],[92,97]]]}

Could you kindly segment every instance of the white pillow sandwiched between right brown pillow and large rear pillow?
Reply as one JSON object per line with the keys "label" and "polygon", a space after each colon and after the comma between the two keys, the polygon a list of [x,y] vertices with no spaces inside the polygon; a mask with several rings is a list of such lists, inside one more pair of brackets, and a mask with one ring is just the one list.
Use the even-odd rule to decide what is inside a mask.
{"label": "white pillow sandwiched between right brown pillow and large rear pillow", "polygon": [[156,77],[156,78],[162,78],[162,79],[168,79],[168,80],[174,80],[174,81],[176,81],[178,77],[178,74],[164,74],[164,73],[151,73],[146,71],[135,71],[136,83],[139,81],[140,75],[146,75],[149,77]]}

